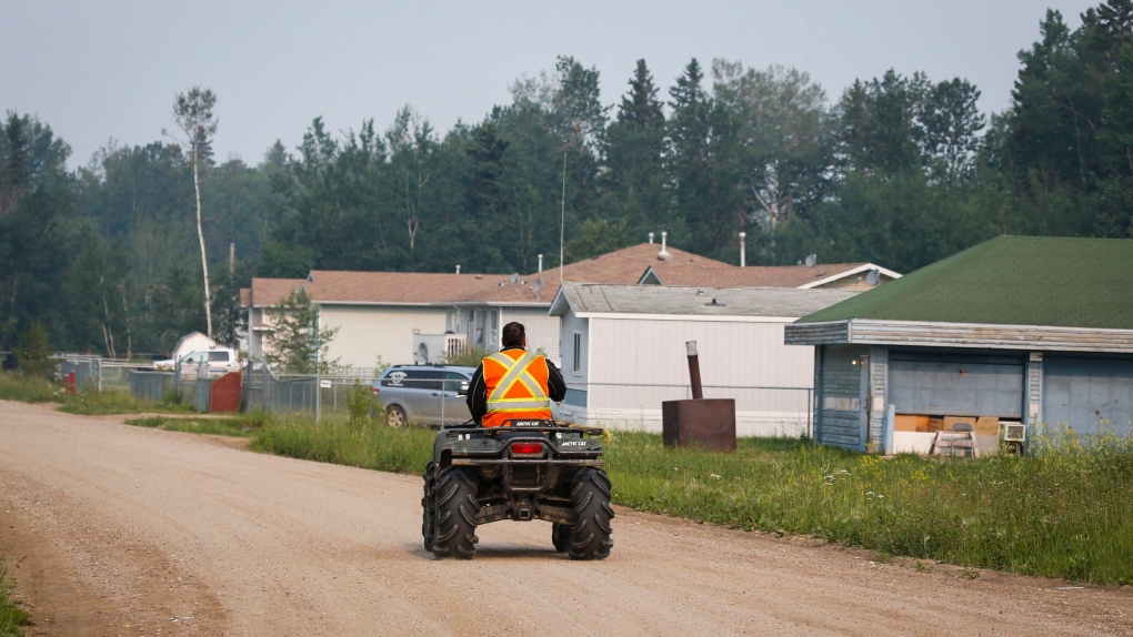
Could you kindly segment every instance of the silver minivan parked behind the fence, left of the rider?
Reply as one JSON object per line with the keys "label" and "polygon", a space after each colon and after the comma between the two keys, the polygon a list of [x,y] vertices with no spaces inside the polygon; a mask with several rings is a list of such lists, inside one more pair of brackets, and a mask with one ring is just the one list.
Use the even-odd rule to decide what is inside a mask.
{"label": "silver minivan parked behind the fence, left of the rider", "polygon": [[451,425],[472,418],[465,403],[476,368],[394,365],[374,381],[374,396],[385,405],[385,423]]}

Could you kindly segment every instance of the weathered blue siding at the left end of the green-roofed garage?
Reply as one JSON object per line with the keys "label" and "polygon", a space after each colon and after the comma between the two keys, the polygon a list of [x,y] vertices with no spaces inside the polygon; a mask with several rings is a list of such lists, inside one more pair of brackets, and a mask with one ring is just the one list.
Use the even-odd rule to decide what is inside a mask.
{"label": "weathered blue siding at the left end of the green-roofed garage", "polygon": [[[846,345],[823,345],[821,365],[819,369],[819,391],[823,402],[818,403],[815,419],[815,440],[824,445],[861,448],[861,367],[852,361],[869,352],[867,347]],[[827,398],[846,398],[859,401],[858,410],[834,410],[826,405]]]}

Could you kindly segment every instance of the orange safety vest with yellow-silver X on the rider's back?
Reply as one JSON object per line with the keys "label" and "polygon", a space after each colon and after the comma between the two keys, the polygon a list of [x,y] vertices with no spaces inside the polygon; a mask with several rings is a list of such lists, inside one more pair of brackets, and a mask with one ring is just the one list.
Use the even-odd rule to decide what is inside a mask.
{"label": "orange safety vest with yellow-silver X on the rider's back", "polygon": [[547,363],[540,354],[506,350],[484,358],[487,413],[484,427],[503,427],[509,420],[551,420]]}

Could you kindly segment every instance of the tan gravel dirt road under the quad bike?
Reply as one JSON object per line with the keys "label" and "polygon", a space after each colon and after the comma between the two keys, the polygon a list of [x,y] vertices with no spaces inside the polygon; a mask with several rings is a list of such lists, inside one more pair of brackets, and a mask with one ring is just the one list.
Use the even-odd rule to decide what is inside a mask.
{"label": "tan gravel dirt road under the quad bike", "polygon": [[[420,480],[0,402],[0,554],[32,635],[1133,635],[1133,594],[806,546],[617,509],[420,542]],[[18,562],[18,565],[14,563]]]}

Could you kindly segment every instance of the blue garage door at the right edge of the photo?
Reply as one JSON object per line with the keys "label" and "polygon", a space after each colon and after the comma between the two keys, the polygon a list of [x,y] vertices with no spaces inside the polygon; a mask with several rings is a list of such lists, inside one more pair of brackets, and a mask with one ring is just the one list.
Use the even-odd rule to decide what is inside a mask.
{"label": "blue garage door at the right edge of the photo", "polygon": [[1133,361],[1048,355],[1042,361],[1042,420],[1096,433],[1108,421],[1121,433],[1133,419]]}

